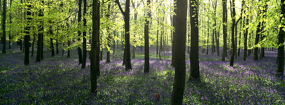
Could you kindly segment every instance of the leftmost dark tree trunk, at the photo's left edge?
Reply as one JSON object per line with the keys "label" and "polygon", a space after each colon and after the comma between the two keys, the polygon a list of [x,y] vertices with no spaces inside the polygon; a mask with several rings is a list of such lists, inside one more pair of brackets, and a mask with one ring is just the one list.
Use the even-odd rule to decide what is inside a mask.
{"label": "leftmost dark tree trunk, at the photo's left edge", "polygon": [[6,0],[3,0],[3,18],[2,18],[2,30],[3,30],[3,37],[2,37],[2,53],[6,53]]}

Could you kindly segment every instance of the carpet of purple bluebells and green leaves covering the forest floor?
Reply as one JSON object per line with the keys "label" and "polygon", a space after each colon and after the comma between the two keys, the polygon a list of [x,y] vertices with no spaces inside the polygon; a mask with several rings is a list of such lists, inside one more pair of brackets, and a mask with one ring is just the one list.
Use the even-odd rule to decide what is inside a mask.
{"label": "carpet of purple bluebells and green leaves covering the forest floor", "polygon": [[[162,52],[159,60],[156,49],[150,49],[148,74],[143,73],[143,50],[137,48],[131,71],[122,66],[121,48],[111,53],[111,63],[105,63],[104,51],[97,96],[89,94],[89,59],[87,68],[80,69],[76,49],[71,50],[70,58],[61,52],[60,48],[60,54],[51,57],[45,49],[44,60],[36,63],[35,54],[30,65],[23,65],[24,53],[16,44],[7,49],[7,54],[1,53],[0,72],[4,73],[0,74],[0,104],[170,104],[174,68],[169,50]],[[277,51],[266,50],[259,61],[253,61],[253,55],[243,61],[242,56],[243,51],[234,67],[229,67],[229,56],[220,61],[216,53],[200,52],[201,79],[186,81],[184,104],[284,104],[284,79],[274,77]],[[189,73],[187,59],[187,78]]]}

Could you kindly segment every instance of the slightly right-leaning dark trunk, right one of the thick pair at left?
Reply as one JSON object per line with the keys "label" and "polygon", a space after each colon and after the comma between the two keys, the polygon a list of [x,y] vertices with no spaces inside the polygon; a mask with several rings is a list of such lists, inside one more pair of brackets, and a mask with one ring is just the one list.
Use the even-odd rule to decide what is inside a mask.
{"label": "slightly right-leaning dark trunk, right one of the thick pair at left", "polygon": [[[44,1],[42,1],[43,5]],[[43,17],[44,16],[44,10],[40,9],[39,10],[39,17]],[[37,42],[37,52],[36,52],[36,62],[40,62],[41,60],[41,48],[42,48],[42,34],[43,34],[43,30],[44,30],[44,26],[43,26],[43,20],[40,19],[40,25],[38,26],[38,42]]]}

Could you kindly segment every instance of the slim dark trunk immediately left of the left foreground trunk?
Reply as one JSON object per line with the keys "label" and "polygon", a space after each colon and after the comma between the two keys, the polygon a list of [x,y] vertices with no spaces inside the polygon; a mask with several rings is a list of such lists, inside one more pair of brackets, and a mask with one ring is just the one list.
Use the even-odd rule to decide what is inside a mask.
{"label": "slim dark trunk immediately left of the left foreground trunk", "polygon": [[[86,0],[83,0],[83,27],[86,27],[86,10],[87,10],[87,1]],[[87,59],[87,41],[86,41],[86,30],[84,30],[82,32],[82,35],[83,35],[83,56],[82,56],[82,65],[81,65],[81,68],[82,69],[85,69],[86,67],[86,59]]]}

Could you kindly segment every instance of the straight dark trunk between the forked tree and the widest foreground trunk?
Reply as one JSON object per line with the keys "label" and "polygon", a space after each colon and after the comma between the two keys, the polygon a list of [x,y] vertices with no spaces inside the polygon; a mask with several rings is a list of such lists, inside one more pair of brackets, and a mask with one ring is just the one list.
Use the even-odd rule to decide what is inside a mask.
{"label": "straight dark trunk between the forked tree and the widest foreground trunk", "polygon": [[146,1],[146,5],[148,6],[145,24],[144,24],[144,73],[149,73],[149,18],[150,18],[150,0]]}

